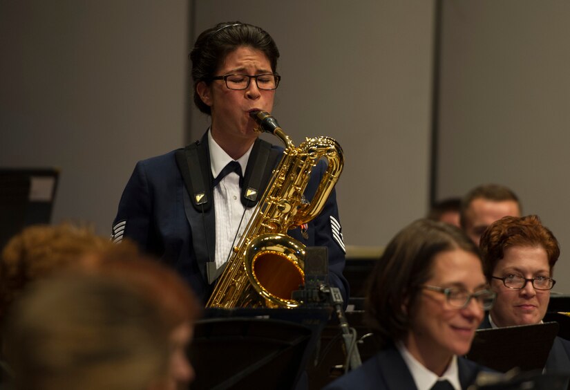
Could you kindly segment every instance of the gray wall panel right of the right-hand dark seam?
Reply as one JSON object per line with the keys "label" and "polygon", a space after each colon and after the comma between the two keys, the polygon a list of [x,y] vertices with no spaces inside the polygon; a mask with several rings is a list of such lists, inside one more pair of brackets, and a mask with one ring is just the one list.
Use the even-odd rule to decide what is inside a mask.
{"label": "gray wall panel right of the right-hand dark seam", "polygon": [[560,241],[570,292],[570,3],[444,0],[437,196],[503,183]]}

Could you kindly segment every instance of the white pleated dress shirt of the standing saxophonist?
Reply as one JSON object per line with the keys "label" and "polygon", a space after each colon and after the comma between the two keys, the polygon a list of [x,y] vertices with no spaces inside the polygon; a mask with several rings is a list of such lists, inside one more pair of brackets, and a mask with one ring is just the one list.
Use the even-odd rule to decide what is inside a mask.
{"label": "white pleated dress shirt of the standing saxophonist", "polygon": [[[210,130],[208,131],[208,146],[210,149],[211,171],[213,177],[216,178],[220,171],[234,159],[216,143],[211,136]],[[245,167],[247,166],[252,147],[253,145],[243,156],[236,160],[241,166],[242,175],[245,175]],[[213,187],[213,206],[214,214],[216,214],[216,250],[214,259],[216,268],[220,268],[227,261],[231,248],[240,241],[240,237],[249,219],[251,219],[251,215],[254,214],[255,207],[250,207],[246,210],[241,203],[240,178],[235,172],[231,172],[225,178],[222,178],[220,184]]]}

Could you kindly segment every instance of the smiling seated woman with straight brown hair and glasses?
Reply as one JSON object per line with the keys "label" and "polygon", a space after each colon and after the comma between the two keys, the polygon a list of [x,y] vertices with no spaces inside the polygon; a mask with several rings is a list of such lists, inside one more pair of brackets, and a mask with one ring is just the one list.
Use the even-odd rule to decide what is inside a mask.
{"label": "smiling seated woman with straight brown hair and glasses", "polygon": [[370,275],[365,310],[381,351],[325,389],[467,389],[486,369],[462,355],[493,299],[468,236],[447,223],[408,225]]}

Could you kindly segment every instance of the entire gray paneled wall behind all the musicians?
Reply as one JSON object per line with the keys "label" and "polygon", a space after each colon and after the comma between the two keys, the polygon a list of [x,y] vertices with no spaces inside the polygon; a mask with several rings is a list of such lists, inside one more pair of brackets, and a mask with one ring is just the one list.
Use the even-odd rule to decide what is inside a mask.
{"label": "entire gray paneled wall behind all the musicians", "polygon": [[[554,205],[569,192],[556,159],[569,115],[569,6],[495,3],[442,3],[435,194],[511,185],[559,236],[564,257],[567,228]],[[385,245],[424,216],[435,0],[0,0],[0,165],[61,168],[54,221],[108,234],[135,162],[207,128],[191,108],[187,54],[198,32],[232,19],[276,40],[274,116],[296,145],[327,135],[343,146],[345,242]],[[563,270],[557,287],[569,290]]]}

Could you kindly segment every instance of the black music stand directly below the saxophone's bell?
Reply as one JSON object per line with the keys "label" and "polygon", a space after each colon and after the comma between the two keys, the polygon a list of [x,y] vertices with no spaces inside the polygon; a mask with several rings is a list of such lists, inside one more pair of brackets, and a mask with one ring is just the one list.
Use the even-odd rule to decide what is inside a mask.
{"label": "black music stand directly below the saxophone's bell", "polygon": [[189,349],[192,389],[294,389],[330,308],[208,308]]}

